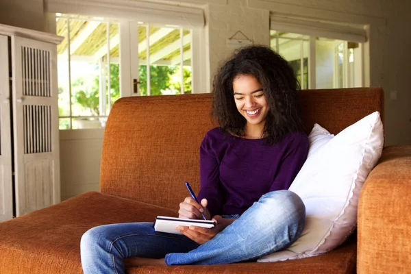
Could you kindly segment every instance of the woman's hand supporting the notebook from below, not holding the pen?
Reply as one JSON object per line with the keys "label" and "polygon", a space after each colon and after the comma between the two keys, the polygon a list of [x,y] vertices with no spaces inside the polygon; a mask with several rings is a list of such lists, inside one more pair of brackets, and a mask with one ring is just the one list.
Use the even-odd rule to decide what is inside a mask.
{"label": "woman's hand supporting the notebook from below, not holding the pen", "polygon": [[191,225],[190,227],[179,226],[177,230],[182,232],[182,234],[186,235],[191,240],[194,240],[199,245],[203,245],[204,242],[208,242],[214,236],[216,236],[219,232],[221,232],[229,223],[225,222],[226,220],[223,217],[216,215],[212,218],[212,221],[216,222],[216,226],[212,228],[206,227],[196,227]]}

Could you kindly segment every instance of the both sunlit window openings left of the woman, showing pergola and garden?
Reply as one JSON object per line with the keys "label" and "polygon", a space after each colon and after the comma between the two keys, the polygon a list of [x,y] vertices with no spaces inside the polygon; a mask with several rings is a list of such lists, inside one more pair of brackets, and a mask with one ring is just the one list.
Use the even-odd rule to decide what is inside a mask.
{"label": "both sunlit window openings left of the woman, showing pergola and garden", "polygon": [[60,129],[105,126],[129,73],[122,60],[138,68],[132,95],[192,92],[192,29],[134,22],[121,32],[116,20],[56,15],[57,34],[64,36],[58,45]]}

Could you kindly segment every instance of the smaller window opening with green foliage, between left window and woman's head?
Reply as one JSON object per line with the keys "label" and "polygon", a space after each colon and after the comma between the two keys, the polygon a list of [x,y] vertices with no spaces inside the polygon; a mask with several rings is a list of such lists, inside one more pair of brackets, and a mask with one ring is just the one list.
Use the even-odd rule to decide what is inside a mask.
{"label": "smaller window opening with green foliage, between left window and woman's head", "polygon": [[177,26],[138,25],[137,32],[138,58],[134,61],[138,61],[138,94],[191,93],[191,31]]}

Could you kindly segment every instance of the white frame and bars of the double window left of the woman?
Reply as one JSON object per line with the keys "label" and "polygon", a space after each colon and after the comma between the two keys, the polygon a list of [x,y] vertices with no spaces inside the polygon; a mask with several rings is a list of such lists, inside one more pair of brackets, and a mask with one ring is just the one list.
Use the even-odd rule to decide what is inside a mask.
{"label": "white frame and bars of the double window left of the woman", "polygon": [[[54,14],[54,22],[55,18],[57,16]],[[98,21],[101,23],[107,23],[108,27],[108,32],[107,32],[107,47],[108,47],[108,52],[110,52],[110,24],[112,23],[118,23],[119,24],[119,51],[120,52],[126,52],[129,54],[119,54],[119,60],[115,63],[118,63],[120,66],[120,72],[119,72],[119,77],[120,77],[120,98],[121,97],[129,97],[129,96],[140,96],[140,90],[138,90],[138,93],[134,92],[134,79],[137,79],[139,81],[139,69],[138,69],[138,58],[135,58],[136,60],[133,60],[133,58],[130,58],[131,55],[138,56],[138,47],[132,47],[132,45],[138,45],[138,27],[147,27],[147,32],[150,26],[155,26],[155,27],[171,27],[174,29],[179,29],[180,30],[180,36],[179,40],[181,40],[182,45],[180,47],[180,58],[184,61],[184,54],[182,53],[183,51],[183,40],[182,40],[182,32],[183,29],[188,29],[187,27],[184,26],[177,26],[177,25],[164,25],[164,24],[151,24],[151,23],[140,23],[138,21],[125,21],[125,20],[110,20],[110,19],[96,19],[96,18],[77,18],[77,17],[72,17],[72,16],[58,16],[58,18],[62,18],[64,20],[67,20],[67,42],[68,42],[68,66],[69,66],[69,115],[64,115],[64,116],[59,116],[59,121],[60,119],[69,119],[69,128],[68,129],[62,129],[62,130],[71,130],[73,129],[73,119],[98,119],[100,121],[103,121],[105,123],[108,114],[110,113],[111,109],[111,99],[110,99],[110,94],[107,94],[107,91],[110,90],[110,88],[104,88],[103,92],[104,94],[101,94],[101,89],[100,89],[100,99],[103,98],[103,103],[106,101],[105,97],[108,96],[108,106],[107,109],[105,109],[105,105],[101,110],[105,110],[104,115],[99,114],[99,115],[73,115],[73,92],[72,92],[72,83],[71,83],[71,54],[70,54],[70,44],[71,40],[69,37],[70,33],[70,20],[79,20],[79,21]],[[55,27],[54,27],[55,29]],[[191,93],[199,93],[201,90],[199,87],[202,85],[204,81],[204,76],[205,75],[200,75],[201,69],[200,69],[200,58],[201,56],[201,49],[199,45],[201,45],[201,38],[204,38],[203,35],[201,35],[201,30],[203,28],[201,27],[192,27],[190,29],[190,48],[191,48],[191,85],[192,85],[192,90]],[[135,34],[135,35],[132,35]],[[136,43],[136,44],[134,44]],[[149,44],[149,40],[147,40],[147,44]],[[134,53],[134,54],[133,54]],[[148,51],[147,51],[147,54]],[[111,64],[113,63],[112,60],[110,60],[110,54],[107,54],[107,58],[105,60],[105,65],[110,68]],[[148,59],[147,59],[148,60]],[[180,62],[180,69],[183,72],[184,71],[184,62]],[[149,72],[149,66],[147,66],[147,72]],[[150,90],[150,79],[149,79],[149,73],[147,74],[147,91],[149,95],[149,90]],[[110,69],[108,73],[105,75],[108,77],[108,84],[105,86],[110,86]],[[182,73],[181,79],[181,92],[184,94],[184,73]],[[110,92],[109,92],[110,93]],[[101,101],[100,101],[101,105]],[[102,126],[102,128],[104,125]]]}

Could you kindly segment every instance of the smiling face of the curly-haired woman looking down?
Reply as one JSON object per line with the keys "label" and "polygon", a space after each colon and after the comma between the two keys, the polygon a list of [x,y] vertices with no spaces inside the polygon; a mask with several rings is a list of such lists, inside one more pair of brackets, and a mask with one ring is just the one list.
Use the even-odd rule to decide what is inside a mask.
{"label": "smiling face of the curly-haired woman looking down", "polygon": [[258,79],[253,75],[238,75],[233,80],[233,89],[237,110],[247,119],[247,126],[264,127],[269,105]]}

